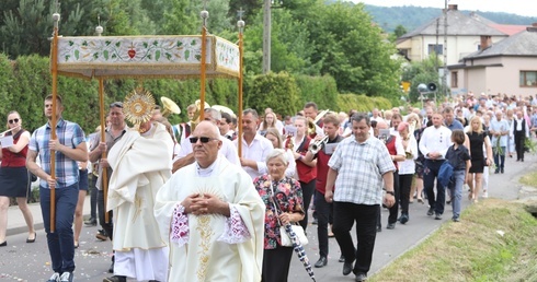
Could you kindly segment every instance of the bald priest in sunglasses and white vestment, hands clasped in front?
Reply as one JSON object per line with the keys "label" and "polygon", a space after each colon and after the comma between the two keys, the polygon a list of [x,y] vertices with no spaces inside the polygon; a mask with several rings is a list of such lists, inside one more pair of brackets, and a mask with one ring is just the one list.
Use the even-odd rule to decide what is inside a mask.
{"label": "bald priest in sunglasses and white vestment, hands clasped in front", "polygon": [[259,282],[265,205],[251,177],[218,154],[218,128],[190,137],[196,162],[157,192],[155,215],[170,246],[169,281]]}

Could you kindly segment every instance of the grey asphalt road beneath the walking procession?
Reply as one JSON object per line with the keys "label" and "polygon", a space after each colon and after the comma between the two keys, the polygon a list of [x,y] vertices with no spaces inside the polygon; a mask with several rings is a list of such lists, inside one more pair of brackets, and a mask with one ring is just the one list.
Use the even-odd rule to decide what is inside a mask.
{"label": "grey asphalt road beneath the walking procession", "polygon": [[[527,155],[525,163],[518,163],[515,158],[507,158],[505,174],[491,174],[489,184],[489,196],[507,200],[517,199],[521,185],[517,179],[521,175],[532,169],[532,164],[537,160],[536,156]],[[467,192],[464,192],[464,207],[469,204]],[[479,204],[479,203],[478,203]],[[452,215],[450,207],[446,208],[444,220],[436,221],[426,215],[427,204],[420,204],[416,201],[410,205],[410,221],[405,224],[398,224],[395,230],[382,230],[378,233],[373,257],[373,265],[369,275],[379,271],[393,261],[395,258],[404,254],[407,250],[420,244],[441,224],[449,222]],[[20,214],[20,213],[19,213]],[[41,214],[35,214],[36,222],[41,220]],[[386,226],[388,211],[382,210],[382,225]],[[465,224],[464,218],[460,223]],[[80,248],[76,250],[77,269],[75,281],[102,281],[108,277],[106,271],[110,267],[111,243],[100,242],[94,235],[98,227],[83,227]],[[37,232],[37,240],[34,244],[26,244],[26,233],[13,234],[8,236],[9,246],[0,248],[0,281],[46,281],[52,275],[49,256],[46,247],[45,232]],[[306,252],[315,263],[319,258],[317,244],[317,226],[308,227],[310,244],[306,247]],[[354,234],[353,234],[354,237]],[[343,277],[341,271],[343,263],[338,262],[340,249],[334,238],[330,238],[330,257],[328,266],[315,268],[317,281],[354,281],[354,277]],[[306,282],[311,281],[304,270],[301,262],[294,255],[289,271],[289,281]]]}

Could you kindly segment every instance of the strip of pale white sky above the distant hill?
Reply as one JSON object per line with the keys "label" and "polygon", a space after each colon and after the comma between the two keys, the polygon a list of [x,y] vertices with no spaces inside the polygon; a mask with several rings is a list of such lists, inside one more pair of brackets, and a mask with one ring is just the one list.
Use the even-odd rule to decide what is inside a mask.
{"label": "strip of pale white sky above the distant hill", "polygon": [[[444,8],[445,0],[351,0],[372,5],[418,5]],[[505,12],[526,16],[537,16],[536,0],[450,0],[448,4],[458,4],[459,10]]]}

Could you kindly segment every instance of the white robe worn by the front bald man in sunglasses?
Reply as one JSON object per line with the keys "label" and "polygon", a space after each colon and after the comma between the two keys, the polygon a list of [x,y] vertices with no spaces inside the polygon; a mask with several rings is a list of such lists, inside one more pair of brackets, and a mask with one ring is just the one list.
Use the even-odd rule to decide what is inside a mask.
{"label": "white robe worn by the front bald man in sunglasses", "polygon": [[[240,215],[249,236],[242,243],[229,238],[228,218],[186,214],[185,240],[170,242],[169,281],[259,282],[263,260],[264,204],[251,177],[241,167],[219,156],[209,177],[197,176],[196,163],[178,171],[157,193],[155,215],[162,236],[170,242],[173,214],[192,193],[212,193],[229,202]],[[236,225],[233,225],[236,226]],[[237,234],[237,232],[235,233]],[[231,239],[232,242],[232,239]]]}

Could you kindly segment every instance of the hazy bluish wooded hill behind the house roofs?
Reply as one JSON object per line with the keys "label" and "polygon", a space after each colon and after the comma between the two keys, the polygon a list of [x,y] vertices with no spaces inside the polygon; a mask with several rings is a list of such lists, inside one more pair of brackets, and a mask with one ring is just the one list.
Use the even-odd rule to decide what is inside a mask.
{"label": "hazy bluish wooded hill behind the house roofs", "polygon": [[[442,14],[442,9],[414,5],[378,7],[366,4],[365,11],[367,11],[373,16],[374,22],[387,33],[392,33],[398,25],[402,25],[408,32],[411,32]],[[499,24],[532,25],[532,23],[537,22],[537,16],[523,16],[498,12],[460,11],[466,14],[477,12],[479,15]]]}

